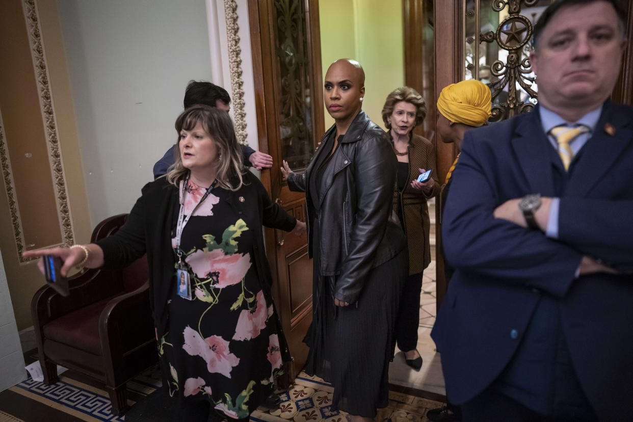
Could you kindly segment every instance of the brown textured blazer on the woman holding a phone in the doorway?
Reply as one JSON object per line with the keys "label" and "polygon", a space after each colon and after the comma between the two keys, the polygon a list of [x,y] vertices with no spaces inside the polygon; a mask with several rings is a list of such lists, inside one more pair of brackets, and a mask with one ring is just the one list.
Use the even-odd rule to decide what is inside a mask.
{"label": "brown textured blazer on the woman holding a phone in the doorway", "polygon": [[[409,275],[422,273],[431,261],[429,245],[430,218],[427,199],[439,193],[440,183],[437,180],[435,147],[430,140],[415,135],[409,140],[409,178],[403,190],[394,190],[393,209],[398,212],[398,206],[403,209],[404,234],[409,247]],[[411,187],[411,180],[420,175],[418,168],[433,169],[435,180],[433,189],[428,195],[421,190]]]}

